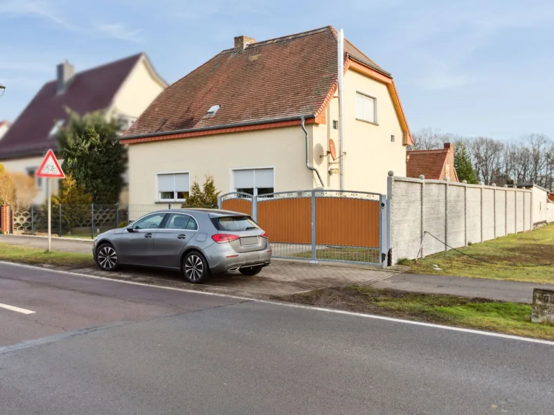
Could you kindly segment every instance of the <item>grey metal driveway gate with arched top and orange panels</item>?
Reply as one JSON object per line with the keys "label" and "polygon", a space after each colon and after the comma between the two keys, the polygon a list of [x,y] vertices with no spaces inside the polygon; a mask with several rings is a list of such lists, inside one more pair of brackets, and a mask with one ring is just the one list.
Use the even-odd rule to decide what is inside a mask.
{"label": "grey metal driveway gate with arched top and orange panels", "polygon": [[231,193],[220,208],[251,214],[274,257],[386,265],[386,196],[301,190],[253,197]]}

